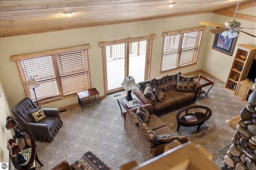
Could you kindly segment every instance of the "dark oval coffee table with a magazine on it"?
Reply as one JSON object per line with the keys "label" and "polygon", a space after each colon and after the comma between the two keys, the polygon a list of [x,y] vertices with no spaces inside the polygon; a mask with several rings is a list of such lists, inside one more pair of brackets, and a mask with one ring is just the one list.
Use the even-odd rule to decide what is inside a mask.
{"label": "dark oval coffee table with a magazine on it", "polygon": [[[205,110],[205,112],[202,113],[202,112],[191,111],[193,109],[200,109],[200,111]],[[185,112],[185,114],[183,112]],[[204,122],[208,120],[211,117],[211,115],[212,115],[211,109],[205,106],[185,107],[184,109],[181,109],[176,115],[176,119],[178,123],[177,132],[180,129],[180,125],[186,126],[186,127],[198,125],[197,131],[199,132],[200,126],[204,124]],[[189,117],[186,117],[187,118],[186,119],[185,116],[189,116]]]}

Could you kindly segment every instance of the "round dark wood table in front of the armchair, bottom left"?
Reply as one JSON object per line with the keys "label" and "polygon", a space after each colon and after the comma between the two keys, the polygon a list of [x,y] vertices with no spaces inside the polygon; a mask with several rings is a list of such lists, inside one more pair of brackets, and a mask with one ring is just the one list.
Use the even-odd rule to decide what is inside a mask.
{"label": "round dark wood table in front of the armchair, bottom left", "polygon": [[15,156],[12,157],[12,155],[10,154],[12,164],[18,170],[29,170],[29,169],[35,170],[36,162],[38,162],[41,166],[43,166],[43,164],[40,162],[36,154],[36,142],[33,134],[28,129],[20,129],[20,131],[24,133],[24,137],[16,138],[16,136],[14,136],[13,138],[18,143],[18,146],[22,151],[26,149],[31,149],[31,154],[30,154],[30,158],[27,158],[27,162],[21,165],[18,164],[18,161],[16,160]]}

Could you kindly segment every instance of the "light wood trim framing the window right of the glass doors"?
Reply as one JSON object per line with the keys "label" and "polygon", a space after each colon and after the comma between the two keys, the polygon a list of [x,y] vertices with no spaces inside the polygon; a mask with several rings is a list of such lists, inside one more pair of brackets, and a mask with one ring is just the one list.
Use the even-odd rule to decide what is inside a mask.
{"label": "light wood trim framing the window right of the glass doors", "polygon": [[[172,35],[178,35],[178,34],[184,34],[184,33],[190,33],[190,32],[195,32],[195,31],[204,31],[206,30],[206,26],[202,26],[202,27],[194,27],[194,28],[188,28],[188,29],[182,29],[182,30],[175,30],[175,31],[168,31],[168,32],[163,32],[162,33],[162,36],[165,37],[166,36],[172,36]],[[160,68],[160,73],[164,73],[164,72],[170,72],[172,70],[178,70],[180,68],[184,68],[184,67],[188,67],[188,66],[191,66],[191,65],[195,65],[196,63],[194,64],[188,64],[186,66],[179,66],[178,68],[172,68],[172,69],[168,69],[168,70],[164,70],[162,71],[162,62],[163,62],[163,55],[164,55],[164,39],[163,39],[163,45],[162,45],[162,56],[161,56],[161,68]],[[198,49],[199,50],[199,49]],[[197,56],[198,57],[198,56]],[[180,58],[178,59],[180,60]]]}

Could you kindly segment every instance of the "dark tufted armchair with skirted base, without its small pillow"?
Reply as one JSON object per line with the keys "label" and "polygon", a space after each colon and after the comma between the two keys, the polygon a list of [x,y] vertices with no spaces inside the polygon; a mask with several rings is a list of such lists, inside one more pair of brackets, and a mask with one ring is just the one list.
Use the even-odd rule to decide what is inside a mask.
{"label": "dark tufted armchair with skirted base, without its small pillow", "polygon": [[62,126],[59,110],[42,109],[46,116],[39,121],[35,121],[29,112],[37,108],[36,104],[30,98],[26,97],[12,109],[12,112],[17,118],[18,123],[23,128],[32,132],[35,140],[51,142]]}

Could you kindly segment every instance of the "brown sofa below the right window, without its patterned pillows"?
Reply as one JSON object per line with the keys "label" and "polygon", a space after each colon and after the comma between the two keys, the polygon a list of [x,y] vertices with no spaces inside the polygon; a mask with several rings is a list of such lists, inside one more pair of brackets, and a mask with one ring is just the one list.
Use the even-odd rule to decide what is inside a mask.
{"label": "brown sofa below the right window, without its patterned pillows", "polygon": [[197,100],[198,93],[201,89],[201,86],[194,82],[193,92],[178,91],[178,90],[169,90],[164,92],[166,97],[162,102],[157,101],[156,105],[149,99],[144,96],[139,88],[132,90],[144,104],[152,104],[154,106],[154,114],[158,115],[166,111],[176,109],[177,107],[184,106],[195,102]]}

